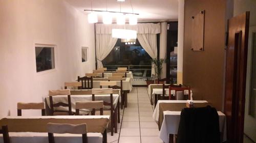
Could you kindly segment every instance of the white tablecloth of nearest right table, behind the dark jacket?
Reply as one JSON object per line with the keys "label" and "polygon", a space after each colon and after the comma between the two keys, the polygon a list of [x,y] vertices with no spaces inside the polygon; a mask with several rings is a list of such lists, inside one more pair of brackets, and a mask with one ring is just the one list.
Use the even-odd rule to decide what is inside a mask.
{"label": "white tablecloth of nearest right table, behind the dark jacket", "polygon": [[[159,137],[164,142],[169,142],[169,134],[178,134],[179,123],[180,123],[181,111],[164,111],[163,112],[163,123],[159,133]],[[221,111],[218,111],[220,132],[222,142],[227,140],[227,128],[226,128],[226,116]]]}

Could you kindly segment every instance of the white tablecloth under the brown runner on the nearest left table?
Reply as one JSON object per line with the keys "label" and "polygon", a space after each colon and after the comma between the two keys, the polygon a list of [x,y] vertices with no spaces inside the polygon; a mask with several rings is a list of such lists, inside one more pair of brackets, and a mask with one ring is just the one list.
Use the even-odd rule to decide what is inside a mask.
{"label": "white tablecloth under the brown runner on the nearest left table", "polygon": [[[56,119],[97,119],[110,118],[110,116],[33,116],[33,117],[7,117],[8,119],[40,119],[40,118],[56,118]],[[102,143],[101,133],[87,133],[88,142]],[[9,132],[12,143],[48,143],[48,133],[38,132]],[[80,134],[54,134],[54,139],[61,143],[77,142],[82,143]],[[0,143],[4,143],[3,134],[0,134]]]}

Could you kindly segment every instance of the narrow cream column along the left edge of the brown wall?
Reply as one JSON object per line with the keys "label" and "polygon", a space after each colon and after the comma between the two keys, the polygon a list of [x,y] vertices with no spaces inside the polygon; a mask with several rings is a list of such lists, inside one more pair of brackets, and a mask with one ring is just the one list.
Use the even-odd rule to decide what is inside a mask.
{"label": "narrow cream column along the left edge of the brown wall", "polygon": [[184,40],[184,0],[179,0],[178,6],[178,55],[177,55],[177,82],[183,82],[183,40]]}

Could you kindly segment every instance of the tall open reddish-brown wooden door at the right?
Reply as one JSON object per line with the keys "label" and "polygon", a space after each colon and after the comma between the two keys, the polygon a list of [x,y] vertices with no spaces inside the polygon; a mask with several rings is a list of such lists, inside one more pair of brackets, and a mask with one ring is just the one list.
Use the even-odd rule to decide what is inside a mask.
{"label": "tall open reddish-brown wooden door at the right", "polygon": [[243,142],[248,31],[249,12],[228,20],[224,113],[230,143]]}

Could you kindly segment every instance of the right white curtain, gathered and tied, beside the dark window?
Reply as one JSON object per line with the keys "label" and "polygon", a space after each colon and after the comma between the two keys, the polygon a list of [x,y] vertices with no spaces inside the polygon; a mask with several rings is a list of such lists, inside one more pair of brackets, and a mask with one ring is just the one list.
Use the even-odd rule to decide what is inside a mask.
{"label": "right white curtain, gathered and tied, beside the dark window", "polygon": [[[156,34],[137,34],[138,41],[143,49],[151,56],[157,58],[157,35]],[[151,75],[156,75],[155,65],[152,64]]]}

